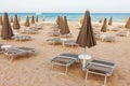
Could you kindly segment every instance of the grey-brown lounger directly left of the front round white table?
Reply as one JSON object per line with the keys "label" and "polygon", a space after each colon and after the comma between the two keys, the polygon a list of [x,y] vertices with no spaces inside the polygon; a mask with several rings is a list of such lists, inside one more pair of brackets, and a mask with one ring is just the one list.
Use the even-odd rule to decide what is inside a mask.
{"label": "grey-brown lounger directly left of the front round white table", "polygon": [[78,55],[75,54],[61,54],[51,59],[52,69],[54,66],[65,67],[65,72],[62,74],[67,74],[68,67],[70,67],[78,59]]}

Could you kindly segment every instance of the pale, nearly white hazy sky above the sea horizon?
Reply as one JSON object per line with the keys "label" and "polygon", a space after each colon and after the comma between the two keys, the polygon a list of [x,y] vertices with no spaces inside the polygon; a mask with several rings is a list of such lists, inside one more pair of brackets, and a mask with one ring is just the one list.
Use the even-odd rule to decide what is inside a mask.
{"label": "pale, nearly white hazy sky above the sea horizon", "polygon": [[130,13],[129,5],[130,0],[0,0],[0,13]]}

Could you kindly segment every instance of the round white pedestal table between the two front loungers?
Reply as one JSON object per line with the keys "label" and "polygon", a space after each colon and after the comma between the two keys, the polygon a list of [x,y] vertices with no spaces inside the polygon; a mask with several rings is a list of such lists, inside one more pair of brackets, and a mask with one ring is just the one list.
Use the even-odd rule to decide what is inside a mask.
{"label": "round white pedestal table between the two front loungers", "polygon": [[82,70],[86,70],[84,68],[86,68],[87,61],[90,60],[92,57],[87,54],[81,54],[78,56],[78,58],[81,61]]}

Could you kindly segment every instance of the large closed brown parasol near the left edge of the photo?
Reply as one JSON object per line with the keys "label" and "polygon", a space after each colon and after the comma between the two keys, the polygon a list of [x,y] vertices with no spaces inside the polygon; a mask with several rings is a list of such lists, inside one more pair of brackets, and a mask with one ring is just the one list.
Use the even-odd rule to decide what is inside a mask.
{"label": "large closed brown parasol near the left edge of the photo", "polygon": [[3,15],[3,24],[2,24],[2,31],[1,31],[1,38],[3,40],[9,40],[13,37],[13,31],[11,29],[11,25],[9,23],[8,13],[4,13]]}

